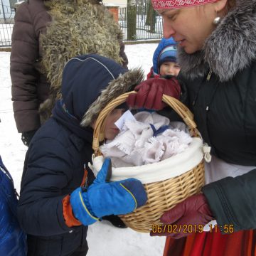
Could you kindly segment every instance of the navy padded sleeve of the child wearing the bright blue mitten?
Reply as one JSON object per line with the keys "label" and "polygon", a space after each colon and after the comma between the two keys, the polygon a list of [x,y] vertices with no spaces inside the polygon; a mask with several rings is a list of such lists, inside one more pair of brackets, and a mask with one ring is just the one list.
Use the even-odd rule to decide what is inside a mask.
{"label": "navy padded sleeve of the child wearing the bright blue mitten", "polygon": [[70,230],[63,217],[62,189],[72,178],[70,155],[55,139],[34,142],[26,155],[18,201],[18,220],[31,235],[58,235]]}

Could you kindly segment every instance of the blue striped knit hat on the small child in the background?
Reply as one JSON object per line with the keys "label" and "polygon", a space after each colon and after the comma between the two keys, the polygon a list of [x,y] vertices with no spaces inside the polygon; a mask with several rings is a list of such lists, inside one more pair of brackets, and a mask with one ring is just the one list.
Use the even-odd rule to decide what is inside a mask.
{"label": "blue striped knit hat on the small child in the background", "polygon": [[161,64],[177,62],[177,43],[173,38],[162,38],[153,55],[153,71],[159,75]]}

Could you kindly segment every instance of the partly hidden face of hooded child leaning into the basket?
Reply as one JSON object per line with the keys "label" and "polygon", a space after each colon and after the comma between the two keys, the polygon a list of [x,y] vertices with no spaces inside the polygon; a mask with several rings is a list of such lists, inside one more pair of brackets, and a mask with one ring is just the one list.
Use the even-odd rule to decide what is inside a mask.
{"label": "partly hidden face of hooded child leaning into the basket", "polygon": [[115,122],[124,114],[124,109],[114,109],[107,116],[105,126],[105,139],[114,139],[119,133],[119,129],[115,126]]}

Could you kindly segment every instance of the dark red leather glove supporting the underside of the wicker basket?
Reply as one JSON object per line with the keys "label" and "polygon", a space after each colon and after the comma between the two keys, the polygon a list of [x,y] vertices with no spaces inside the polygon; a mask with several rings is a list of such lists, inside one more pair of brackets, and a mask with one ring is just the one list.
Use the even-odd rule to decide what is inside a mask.
{"label": "dark red leather glove supporting the underside of the wicker basket", "polygon": [[[164,213],[161,216],[161,222],[167,224],[166,227],[164,228],[163,225],[162,228],[159,228],[159,233],[153,233],[151,231],[150,235],[166,235],[171,236],[171,238],[182,238],[191,233],[191,228],[193,232],[202,230],[203,225],[206,225],[213,219],[206,197],[201,193],[186,198],[185,201],[178,203],[174,208]],[[170,225],[169,228],[167,228],[168,224]],[[190,230],[186,232],[184,228],[188,226],[190,226]]]}

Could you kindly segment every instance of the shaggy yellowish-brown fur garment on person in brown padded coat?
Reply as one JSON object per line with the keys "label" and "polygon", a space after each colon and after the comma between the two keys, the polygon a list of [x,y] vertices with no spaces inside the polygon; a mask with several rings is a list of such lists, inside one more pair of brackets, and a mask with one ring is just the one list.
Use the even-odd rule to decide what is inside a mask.
{"label": "shaggy yellowish-brown fur garment on person in brown padded coat", "polygon": [[97,0],[51,0],[45,2],[52,21],[41,34],[41,69],[50,82],[49,99],[40,107],[41,122],[48,119],[60,99],[63,68],[70,58],[97,53],[122,64],[122,31],[112,14]]}

